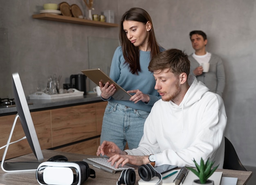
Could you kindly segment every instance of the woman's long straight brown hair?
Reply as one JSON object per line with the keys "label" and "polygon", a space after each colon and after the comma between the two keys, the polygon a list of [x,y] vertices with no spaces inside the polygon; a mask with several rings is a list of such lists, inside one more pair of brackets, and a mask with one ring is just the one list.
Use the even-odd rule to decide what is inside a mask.
{"label": "woman's long straight brown hair", "polygon": [[146,24],[148,21],[151,23],[151,29],[149,31],[148,43],[150,46],[150,57],[152,58],[157,53],[159,53],[159,44],[155,38],[155,33],[153,29],[152,20],[148,12],[141,8],[131,8],[126,11],[121,18],[119,26],[119,40],[122,47],[125,63],[129,65],[130,72],[132,74],[137,74],[141,71],[139,64],[139,46],[134,46],[127,38],[124,31],[123,22],[125,20],[132,20],[137,22],[142,22]]}

